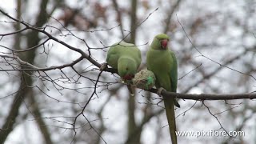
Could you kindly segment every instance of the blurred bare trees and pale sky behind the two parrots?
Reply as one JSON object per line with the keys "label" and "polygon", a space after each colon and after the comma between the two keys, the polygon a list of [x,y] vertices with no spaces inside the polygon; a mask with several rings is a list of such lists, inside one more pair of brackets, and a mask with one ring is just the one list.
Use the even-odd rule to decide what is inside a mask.
{"label": "blurred bare trees and pale sky behind the two parrots", "polygon": [[[143,69],[154,35],[170,35],[179,93],[255,92],[255,0],[2,3],[21,22],[0,14],[0,143],[170,143],[161,98],[143,90],[130,97],[117,74],[99,75],[91,63],[104,62],[121,40],[142,50]],[[256,142],[254,100],[180,105],[178,131],[246,134],[178,137],[180,143]]]}

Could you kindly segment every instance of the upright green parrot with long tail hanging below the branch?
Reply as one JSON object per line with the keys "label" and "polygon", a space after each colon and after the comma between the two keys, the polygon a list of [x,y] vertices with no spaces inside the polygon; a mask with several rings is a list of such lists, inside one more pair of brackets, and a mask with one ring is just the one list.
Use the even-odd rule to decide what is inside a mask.
{"label": "upright green parrot with long tail hanging below the branch", "polygon": [[[177,90],[177,60],[174,52],[169,50],[167,46],[168,42],[168,35],[156,35],[150,45],[150,50],[146,54],[147,69],[151,70],[156,77],[155,86],[158,88],[158,95],[161,95],[162,90],[170,92],[176,92]],[[180,106],[176,99],[172,97],[163,97],[163,101],[166,108],[171,142],[177,144],[174,105]]]}

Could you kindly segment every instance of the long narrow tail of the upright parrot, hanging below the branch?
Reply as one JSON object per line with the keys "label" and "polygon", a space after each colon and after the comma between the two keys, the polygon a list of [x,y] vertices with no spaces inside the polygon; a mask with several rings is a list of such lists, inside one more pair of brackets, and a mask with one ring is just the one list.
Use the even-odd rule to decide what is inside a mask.
{"label": "long narrow tail of the upright parrot, hanging below the branch", "polygon": [[168,97],[163,97],[163,98],[164,98],[164,103],[166,108],[166,117],[169,124],[171,142],[172,144],[177,144],[174,99],[168,98]]}

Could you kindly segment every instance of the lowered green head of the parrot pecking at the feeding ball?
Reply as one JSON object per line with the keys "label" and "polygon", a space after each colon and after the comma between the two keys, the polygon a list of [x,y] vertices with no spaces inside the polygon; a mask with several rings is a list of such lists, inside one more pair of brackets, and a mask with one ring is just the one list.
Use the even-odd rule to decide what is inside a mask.
{"label": "lowered green head of the parrot pecking at the feeding ball", "polygon": [[138,66],[131,58],[119,58],[118,60],[118,74],[124,81],[130,81],[134,78]]}

